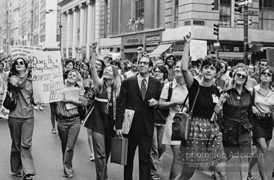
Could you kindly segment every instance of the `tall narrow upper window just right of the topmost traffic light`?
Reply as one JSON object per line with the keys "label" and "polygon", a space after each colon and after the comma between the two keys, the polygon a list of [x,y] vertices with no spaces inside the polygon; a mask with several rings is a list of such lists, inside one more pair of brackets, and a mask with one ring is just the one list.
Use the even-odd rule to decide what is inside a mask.
{"label": "tall narrow upper window just right of the topmost traffic light", "polygon": [[220,0],[220,26],[231,27],[231,0]]}

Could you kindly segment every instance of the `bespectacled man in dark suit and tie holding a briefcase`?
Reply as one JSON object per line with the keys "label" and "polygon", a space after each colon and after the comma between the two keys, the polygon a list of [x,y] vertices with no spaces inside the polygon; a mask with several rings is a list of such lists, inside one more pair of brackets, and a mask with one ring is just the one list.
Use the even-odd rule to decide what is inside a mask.
{"label": "bespectacled man in dark suit and tie holding a briefcase", "polygon": [[134,110],[129,138],[127,164],[124,167],[124,180],[132,180],[133,160],[136,148],[139,150],[139,179],[150,180],[150,147],[154,131],[153,108],[157,107],[160,95],[160,82],[150,77],[152,60],[143,56],[138,61],[139,75],[122,82],[117,105],[116,134],[122,137],[124,110]]}

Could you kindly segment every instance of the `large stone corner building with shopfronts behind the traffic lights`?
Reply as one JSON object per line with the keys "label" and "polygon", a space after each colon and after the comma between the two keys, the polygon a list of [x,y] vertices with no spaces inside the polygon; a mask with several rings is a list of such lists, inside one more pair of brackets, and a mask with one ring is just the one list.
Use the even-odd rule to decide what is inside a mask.
{"label": "large stone corner building with shopfronts behind the traffic lights", "polygon": [[[235,0],[218,1],[218,11],[212,11],[214,0],[101,0],[100,43],[102,55],[121,53],[123,59],[137,56],[143,46],[148,53],[157,49],[159,56],[173,53],[178,59],[183,51],[183,36],[207,41],[207,50],[215,51],[214,24],[219,24],[219,56],[229,62],[243,59],[244,30],[237,25],[243,13],[235,11]],[[274,1],[253,0],[248,4],[249,45],[274,46]],[[259,55],[249,53],[249,60]]]}

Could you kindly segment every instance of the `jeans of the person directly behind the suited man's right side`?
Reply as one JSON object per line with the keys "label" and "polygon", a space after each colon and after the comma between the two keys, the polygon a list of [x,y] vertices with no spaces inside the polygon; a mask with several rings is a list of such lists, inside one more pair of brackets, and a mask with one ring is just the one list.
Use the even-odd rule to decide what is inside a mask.
{"label": "jeans of the person directly behind the suited man's right side", "polygon": [[165,124],[156,124],[154,127],[154,134],[152,138],[151,151],[150,151],[150,161],[151,169],[150,174],[159,174],[159,158],[166,150],[166,146],[162,144],[162,139],[164,135]]}

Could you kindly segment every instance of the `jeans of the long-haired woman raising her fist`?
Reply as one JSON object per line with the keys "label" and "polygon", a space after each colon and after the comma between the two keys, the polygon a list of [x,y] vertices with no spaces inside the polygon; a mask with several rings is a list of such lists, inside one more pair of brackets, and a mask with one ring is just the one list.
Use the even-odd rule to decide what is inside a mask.
{"label": "jeans of the long-haired woman raising her fist", "polygon": [[107,161],[110,158],[112,132],[100,134],[92,131],[92,142],[95,157],[96,179],[107,179]]}

